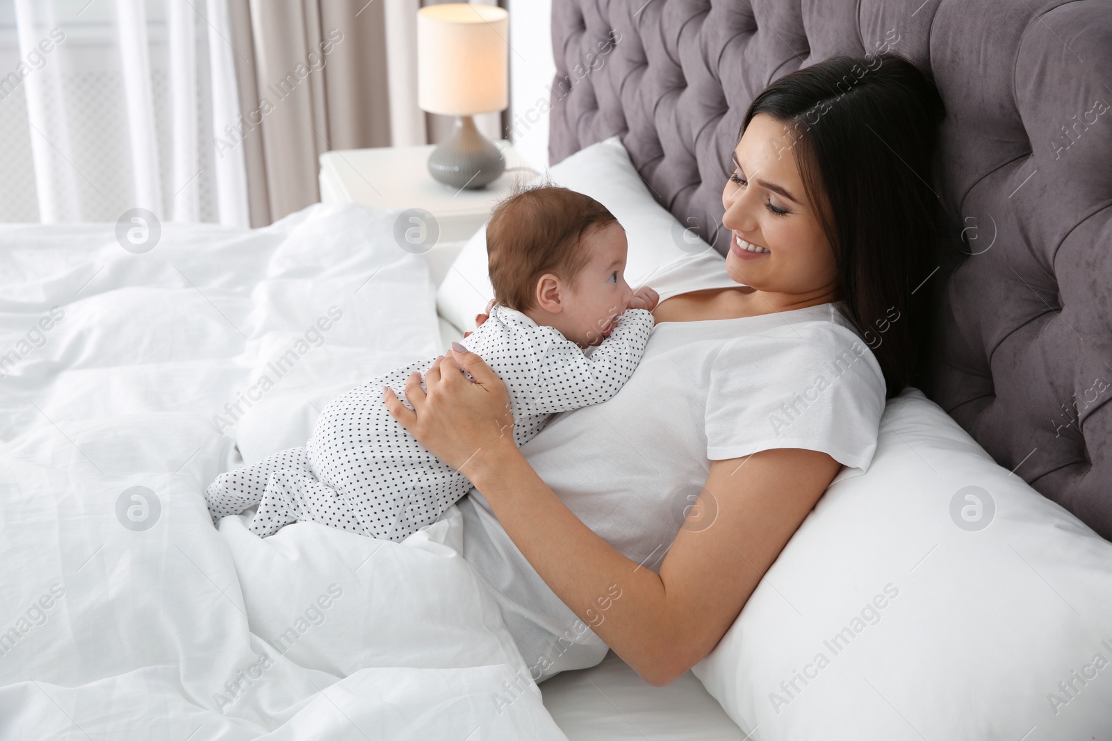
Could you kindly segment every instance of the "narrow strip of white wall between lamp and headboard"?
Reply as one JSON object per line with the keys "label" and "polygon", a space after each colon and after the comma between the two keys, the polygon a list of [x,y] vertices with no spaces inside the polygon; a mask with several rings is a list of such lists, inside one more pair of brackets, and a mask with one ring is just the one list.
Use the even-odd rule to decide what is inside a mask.
{"label": "narrow strip of white wall between lamp and headboard", "polygon": [[506,138],[538,169],[548,167],[548,99],[556,62],[552,0],[509,0],[509,127]]}

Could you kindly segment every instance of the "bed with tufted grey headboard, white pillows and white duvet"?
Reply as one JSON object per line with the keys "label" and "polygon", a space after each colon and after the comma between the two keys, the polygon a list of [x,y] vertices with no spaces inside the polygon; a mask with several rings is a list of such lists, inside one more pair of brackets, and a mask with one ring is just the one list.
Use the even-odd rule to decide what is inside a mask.
{"label": "bed with tufted grey headboard, white pillows and white duvet", "polygon": [[[259,541],[201,498],[466,329],[481,230],[416,256],[356,206],[139,247],[2,227],[0,738],[1112,735],[1112,10],[554,0],[552,34],[554,179],[637,236],[643,277],[724,250],[728,148],[770,79],[884,44],[933,74],[953,250],[931,373],[888,403],[868,473],[835,480],[673,684],[613,652],[537,684],[457,511],[405,543]],[[692,218],[702,244],[677,241]]]}

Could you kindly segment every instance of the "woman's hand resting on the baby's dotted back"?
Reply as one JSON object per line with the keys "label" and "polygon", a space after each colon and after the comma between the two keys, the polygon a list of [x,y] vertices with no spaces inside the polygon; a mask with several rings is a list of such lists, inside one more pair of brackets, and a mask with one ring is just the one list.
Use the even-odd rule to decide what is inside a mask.
{"label": "woman's hand resting on the baby's dotted back", "polygon": [[[475,381],[468,380],[460,368]],[[406,398],[413,411],[389,387],[383,388],[383,401],[394,419],[446,464],[463,470],[475,483],[469,471],[477,470],[507,443],[517,449],[506,384],[480,357],[453,342],[451,357],[437,359],[425,373],[424,390],[420,380],[420,373],[414,372],[406,381]],[[464,470],[465,465],[469,468]]]}

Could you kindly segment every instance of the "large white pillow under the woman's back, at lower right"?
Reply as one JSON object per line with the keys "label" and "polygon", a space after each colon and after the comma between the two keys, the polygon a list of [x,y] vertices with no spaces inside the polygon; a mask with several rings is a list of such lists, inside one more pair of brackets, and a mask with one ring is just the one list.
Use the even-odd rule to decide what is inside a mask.
{"label": "large white pillow under the woman's back, at lower right", "polygon": [[1112,738],[1112,543],[907,390],[694,673],[762,741]]}

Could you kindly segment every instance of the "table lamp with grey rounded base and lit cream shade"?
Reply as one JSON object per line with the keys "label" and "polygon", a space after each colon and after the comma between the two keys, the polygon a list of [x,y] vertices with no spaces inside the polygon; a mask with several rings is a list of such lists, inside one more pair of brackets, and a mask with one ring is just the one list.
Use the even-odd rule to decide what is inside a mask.
{"label": "table lamp with grey rounded base and lit cream shade", "polygon": [[508,32],[509,13],[502,8],[450,3],[417,11],[417,106],[458,117],[451,136],[429,154],[428,171],[453,188],[483,188],[506,167],[471,117],[509,104]]}

